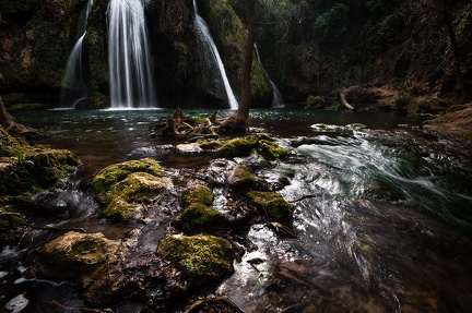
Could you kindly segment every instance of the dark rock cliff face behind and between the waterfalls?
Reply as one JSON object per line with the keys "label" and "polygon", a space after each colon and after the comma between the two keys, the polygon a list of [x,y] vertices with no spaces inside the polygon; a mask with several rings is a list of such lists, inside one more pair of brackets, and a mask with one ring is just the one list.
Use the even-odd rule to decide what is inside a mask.
{"label": "dark rock cliff face behind and between the waterfalls", "polygon": [[[239,91],[239,67],[245,28],[226,1],[200,1],[204,15],[224,19],[220,29],[210,25],[228,71],[233,89]],[[0,15],[0,94],[7,106],[22,103],[56,105],[72,47],[81,36],[86,0],[5,0]],[[200,51],[191,1],[144,1],[160,106],[225,107],[223,95],[210,93],[214,82],[201,79]],[[108,94],[107,22],[108,0],[95,0],[83,41],[90,94]],[[210,24],[210,23],[209,23]],[[224,32],[220,34],[220,32]],[[216,40],[215,40],[216,41]],[[118,47],[117,47],[118,48]],[[255,63],[255,99],[270,104],[271,91],[260,65]],[[10,94],[22,97],[9,97]]]}

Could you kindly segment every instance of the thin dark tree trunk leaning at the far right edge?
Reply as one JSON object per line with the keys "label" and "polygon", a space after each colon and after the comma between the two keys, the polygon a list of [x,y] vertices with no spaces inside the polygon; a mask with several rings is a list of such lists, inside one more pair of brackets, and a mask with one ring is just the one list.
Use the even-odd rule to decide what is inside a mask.
{"label": "thin dark tree trunk leaning at the far right edge", "polygon": [[448,9],[447,8],[447,0],[442,0],[441,15],[442,15],[442,21],[444,21],[445,26],[446,26],[446,31],[447,31],[448,36],[449,36],[449,44],[451,47],[456,82],[458,83],[459,88],[462,93],[462,101],[465,104],[471,99],[471,95],[470,95],[469,89],[467,88],[464,80],[462,77],[459,48],[458,48],[458,44],[457,44],[456,33],[453,31],[451,17],[450,17],[450,14],[449,14],[447,9]]}

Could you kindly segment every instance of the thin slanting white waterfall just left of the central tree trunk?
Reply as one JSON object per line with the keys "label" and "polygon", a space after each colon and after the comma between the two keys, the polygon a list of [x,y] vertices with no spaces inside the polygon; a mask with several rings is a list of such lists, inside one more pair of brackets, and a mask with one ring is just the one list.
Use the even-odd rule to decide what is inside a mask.
{"label": "thin slanting white waterfall just left of the central tree trunk", "polygon": [[194,10],[194,14],[196,14],[196,19],[194,19],[196,29],[197,29],[197,32],[200,32],[200,34],[202,35],[202,37],[204,39],[204,43],[206,43],[211,48],[213,58],[214,58],[214,60],[219,67],[221,76],[223,79],[223,83],[224,83],[224,87],[226,91],[226,96],[228,99],[229,107],[232,109],[237,109],[238,108],[238,101],[236,100],[236,97],[235,97],[233,89],[231,87],[223,61],[220,57],[220,52],[216,48],[216,45],[213,40],[213,37],[211,36],[210,28],[209,28],[206,22],[203,20],[202,16],[200,16],[200,14],[198,12],[197,0],[193,0],[193,10]]}

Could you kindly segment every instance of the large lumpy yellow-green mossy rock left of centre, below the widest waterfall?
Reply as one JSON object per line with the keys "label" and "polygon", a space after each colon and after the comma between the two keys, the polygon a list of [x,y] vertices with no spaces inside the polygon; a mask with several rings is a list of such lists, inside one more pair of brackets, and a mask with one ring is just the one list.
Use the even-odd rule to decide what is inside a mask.
{"label": "large lumpy yellow-green mossy rock left of centre, below the widest waterfall", "polygon": [[92,181],[97,200],[106,206],[103,214],[118,220],[140,217],[143,205],[172,185],[156,160],[144,158],[111,165]]}

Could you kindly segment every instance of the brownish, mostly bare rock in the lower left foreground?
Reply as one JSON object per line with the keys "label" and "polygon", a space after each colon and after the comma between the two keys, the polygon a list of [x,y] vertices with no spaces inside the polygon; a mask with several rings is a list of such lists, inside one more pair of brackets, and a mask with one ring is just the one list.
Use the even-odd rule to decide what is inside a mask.
{"label": "brownish, mostly bare rock in the lower left foreground", "polygon": [[38,250],[32,273],[56,281],[76,281],[87,293],[104,292],[118,248],[119,241],[109,240],[101,232],[70,231]]}

